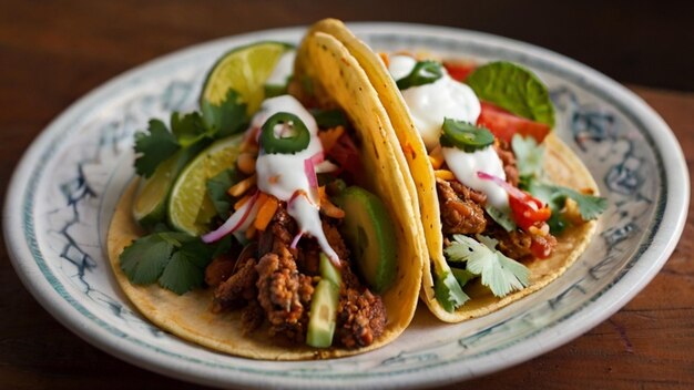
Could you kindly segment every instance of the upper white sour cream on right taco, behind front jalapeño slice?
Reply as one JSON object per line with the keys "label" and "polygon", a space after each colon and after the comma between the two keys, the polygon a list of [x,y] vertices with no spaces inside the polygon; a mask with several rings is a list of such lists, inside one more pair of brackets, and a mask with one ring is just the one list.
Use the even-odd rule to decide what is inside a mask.
{"label": "upper white sour cream on right taco, behind front jalape\u00f1o slice", "polygon": [[[388,71],[397,81],[407,76],[417,61],[411,57],[395,55],[389,59]],[[433,83],[400,91],[429,151],[439,144],[443,119],[476,123],[481,111],[480,101],[472,89],[451,79],[446,69],[442,71],[443,76]]]}

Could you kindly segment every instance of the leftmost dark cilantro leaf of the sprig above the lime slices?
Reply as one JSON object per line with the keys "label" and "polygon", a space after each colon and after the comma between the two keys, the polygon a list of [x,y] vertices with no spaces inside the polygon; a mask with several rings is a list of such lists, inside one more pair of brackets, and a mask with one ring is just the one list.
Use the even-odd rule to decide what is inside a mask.
{"label": "leftmost dark cilantro leaf of the sprig above the lime slices", "polygon": [[160,120],[151,120],[147,133],[135,133],[135,172],[144,177],[154,174],[156,166],[171,157],[181,145],[176,137],[169,132],[164,122]]}

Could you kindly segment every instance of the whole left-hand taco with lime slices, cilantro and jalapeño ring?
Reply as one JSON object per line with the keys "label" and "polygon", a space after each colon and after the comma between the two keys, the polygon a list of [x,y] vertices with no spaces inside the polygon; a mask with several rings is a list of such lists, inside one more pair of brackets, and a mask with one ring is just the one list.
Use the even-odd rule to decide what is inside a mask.
{"label": "whole left-hand taco with lime slices, cilantro and jalape\u00f1o ring", "polygon": [[337,39],[235,49],[210,71],[201,112],[174,113],[171,127],[152,121],[136,135],[141,177],[108,237],[116,281],[144,317],[272,360],[360,353],[402,332],[426,246],[401,191],[414,185],[388,114]]}

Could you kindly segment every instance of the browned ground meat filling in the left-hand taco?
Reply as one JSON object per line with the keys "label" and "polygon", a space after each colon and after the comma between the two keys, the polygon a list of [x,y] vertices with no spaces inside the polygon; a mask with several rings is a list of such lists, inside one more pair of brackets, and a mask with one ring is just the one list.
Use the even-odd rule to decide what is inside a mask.
{"label": "browned ground meat filling in the left-hand taco", "polygon": [[[251,244],[236,261],[213,261],[205,276],[208,285],[216,286],[213,310],[241,308],[244,332],[267,321],[271,335],[303,342],[319,280],[320,247],[314,239],[303,238],[297,249],[289,248],[297,227],[285,207],[277,208],[257,246]],[[350,270],[349,250],[337,228],[324,220],[323,229],[341,264],[336,342],[347,348],[368,346],[384,332],[386,308]]]}

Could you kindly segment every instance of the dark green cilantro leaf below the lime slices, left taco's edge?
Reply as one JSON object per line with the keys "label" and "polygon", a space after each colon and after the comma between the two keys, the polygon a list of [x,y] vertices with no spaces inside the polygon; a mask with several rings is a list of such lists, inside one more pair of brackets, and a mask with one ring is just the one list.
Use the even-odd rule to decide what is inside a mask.
{"label": "dark green cilantro leaf below the lime slices, left taco's edge", "polygon": [[159,232],[134,240],[120,256],[121,269],[135,285],[159,283],[178,295],[204,283],[205,267],[215,253],[198,237]]}

